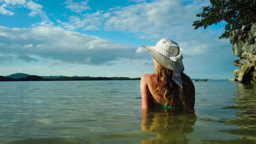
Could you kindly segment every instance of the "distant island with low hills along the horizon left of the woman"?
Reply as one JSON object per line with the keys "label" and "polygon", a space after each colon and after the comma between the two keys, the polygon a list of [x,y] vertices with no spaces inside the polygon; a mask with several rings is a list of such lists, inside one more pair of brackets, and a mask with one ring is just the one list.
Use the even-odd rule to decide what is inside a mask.
{"label": "distant island with low hills along the horizon left of the woman", "polygon": [[37,76],[26,73],[14,73],[0,76],[0,81],[114,81],[114,80],[140,80],[129,77],[90,77],[90,76]]}

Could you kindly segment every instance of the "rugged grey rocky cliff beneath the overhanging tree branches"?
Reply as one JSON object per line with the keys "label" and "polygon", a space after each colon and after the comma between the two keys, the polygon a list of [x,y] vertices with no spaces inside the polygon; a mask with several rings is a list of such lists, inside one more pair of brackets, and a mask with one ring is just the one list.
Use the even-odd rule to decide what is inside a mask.
{"label": "rugged grey rocky cliff beneath the overhanging tree branches", "polygon": [[235,70],[239,83],[256,83],[256,23],[243,26],[230,34],[230,43],[234,55],[240,57],[233,65],[241,67]]}

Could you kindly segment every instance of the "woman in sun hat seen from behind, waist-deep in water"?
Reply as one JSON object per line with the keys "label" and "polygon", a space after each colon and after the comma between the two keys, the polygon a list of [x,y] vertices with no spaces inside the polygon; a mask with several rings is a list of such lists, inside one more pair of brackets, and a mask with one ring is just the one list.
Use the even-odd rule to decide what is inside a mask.
{"label": "woman in sun hat seen from behind, waist-deep in water", "polygon": [[183,108],[195,112],[195,86],[183,73],[182,48],[167,38],[143,46],[154,58],[155,72],[141,77],[142,108]]}

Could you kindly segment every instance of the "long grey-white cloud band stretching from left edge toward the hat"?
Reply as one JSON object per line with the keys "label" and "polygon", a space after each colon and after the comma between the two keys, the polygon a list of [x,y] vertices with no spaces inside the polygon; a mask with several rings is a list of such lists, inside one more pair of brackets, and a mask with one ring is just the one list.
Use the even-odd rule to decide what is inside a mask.
{"label": "long grey-white cloud band stretching from left edge toward the hat", "polygon": [[88,65],[112,65],[110,61],[120,58],[140,59],[134,54],[134,46],[115,44],[96,36],[65,31],[61,27],[17,29],[0,26],[0,34],[0,38],[6,39],[1,43],[1,53],[28,62],[36,60],[28,55]]}

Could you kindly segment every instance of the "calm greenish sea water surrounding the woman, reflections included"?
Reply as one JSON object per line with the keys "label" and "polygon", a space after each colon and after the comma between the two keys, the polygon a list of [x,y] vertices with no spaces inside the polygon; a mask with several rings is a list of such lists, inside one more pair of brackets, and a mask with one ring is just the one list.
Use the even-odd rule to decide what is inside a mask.
{"label": "calm greenish sea water surrounding the woman, reflections included", "polygon": [[0,82],[0,144],[255,144],[256,85],[194,82],[195,114],[142,112],[140,81]]}

